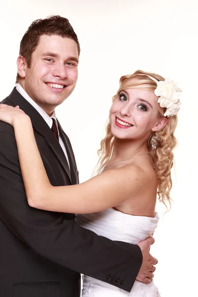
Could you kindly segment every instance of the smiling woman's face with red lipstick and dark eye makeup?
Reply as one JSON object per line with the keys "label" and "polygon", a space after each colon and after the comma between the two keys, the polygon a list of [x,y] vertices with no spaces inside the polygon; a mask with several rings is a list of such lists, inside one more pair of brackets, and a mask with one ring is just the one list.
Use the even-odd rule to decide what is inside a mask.
{"label": "smiling woman's face with red lipstick and dark eye makeup", "polygon": [[111,132],[116,138],[146,140],[163,127],[154,92],[139,88],[121,91],[110,108]]}

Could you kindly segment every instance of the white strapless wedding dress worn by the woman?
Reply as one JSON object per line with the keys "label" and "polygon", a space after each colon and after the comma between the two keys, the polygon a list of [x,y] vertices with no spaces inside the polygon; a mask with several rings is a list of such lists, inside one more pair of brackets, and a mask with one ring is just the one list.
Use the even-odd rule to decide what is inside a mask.
{"label": "white strapless wedding dress worn by the woman", "polygon": [[[114,241],[137,244],[152,235],[159,217],[155,213],[153,218],[124,214],[113,208],[104,211],[81,214],[76,216],[78,224],[98,235]],[[130,293],[108,283],[83,276],[82,297],[160,297],[153,281],[143,284],[135,281]]]}

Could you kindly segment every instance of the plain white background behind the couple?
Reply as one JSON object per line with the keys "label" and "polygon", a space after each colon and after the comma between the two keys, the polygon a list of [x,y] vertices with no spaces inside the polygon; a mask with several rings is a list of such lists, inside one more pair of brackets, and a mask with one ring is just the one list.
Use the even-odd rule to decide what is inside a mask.
{"label": "plain white background behind the couple", "polygon": [[[19,43],[30,23],[67,17],[81,45],[79,80],[56,114],[70,137],[80,181],[90,178],[119,78],[137,69],[170,77],[182,88],[178,148],[169,213],[162,216],[151,253],[162,297],[198,296],[196,0],[7,0],[0,4],[1,99],[14,87]],[[157,206],[160,214],[164,210]]]}

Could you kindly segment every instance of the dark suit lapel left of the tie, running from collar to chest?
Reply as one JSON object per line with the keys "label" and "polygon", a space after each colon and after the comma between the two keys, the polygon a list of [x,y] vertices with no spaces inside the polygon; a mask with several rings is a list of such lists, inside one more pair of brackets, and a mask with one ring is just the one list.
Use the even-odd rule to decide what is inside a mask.
{"label": "dark suit lapel left of the tie, running from collar to chest", "polygon": [[61,146],[57,142],[56,138],[54,137],[53,132],[49,128],[48,124],[43,119],[43,117],[26,99],[23,98],[22,95],[19,94],[16,88],[13,89],[12,93],[8,96],[8,99],[14,106],[19,105],[19,107],[27,115],[29,115],[34,129],[45,138],[46,142],[49,145],[49,148],[53,151],[55,157],[61,164],[65,173],[67,174],[70,182],[72,182],[71,174],[70,174],[70,170],[69,170],[69,166],[68,166],[65,154]]}

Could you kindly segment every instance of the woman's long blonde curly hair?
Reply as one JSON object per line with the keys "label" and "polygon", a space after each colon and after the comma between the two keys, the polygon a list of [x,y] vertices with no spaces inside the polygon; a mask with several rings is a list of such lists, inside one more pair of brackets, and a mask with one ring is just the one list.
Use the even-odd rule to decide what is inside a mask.
{"label": "woman's long blonde curly hair", "polygon": [[[120,78],[120,87],[117,94],[113,96],[112,101],[117,98],[120,91],[126,89],[141,89],[153,91],[157,84],[152,79],[157,81],[164,81],[165,79],[155,73],[149,73],[142,70],[137,70],[133,74],[125,75]],[[136,80],[132,80],[136,79]],[[139,87],[141,85],[141,87]],[[145,85],[145,86],[144,86]],[[158,105],[159,117],[163,117],[166,111],[165,107]],[[157,140],[157,148],[154,150],[150,146],[150,139],[148,140],[148,151],[153,160],[155,172],[157,176],[157,195],[158,199],[167,207],[167,202],[171,206],[170,190],[172,188],[171,168],[173,166],[174,155],[173,149],[177,145],[177,140],[174,136],[175,128],[177,126],[177,115],[168,117],[168,122],[163,129],[154,132]],[[97,164],[97,173],[110,159],[112,149],[115,143],[115,137],[111,133],[110,120],[106,127],[106,136],[100,142],[100,149],[98,150],[99,162]],[[168,207],[167,207],[168,208]]]}

